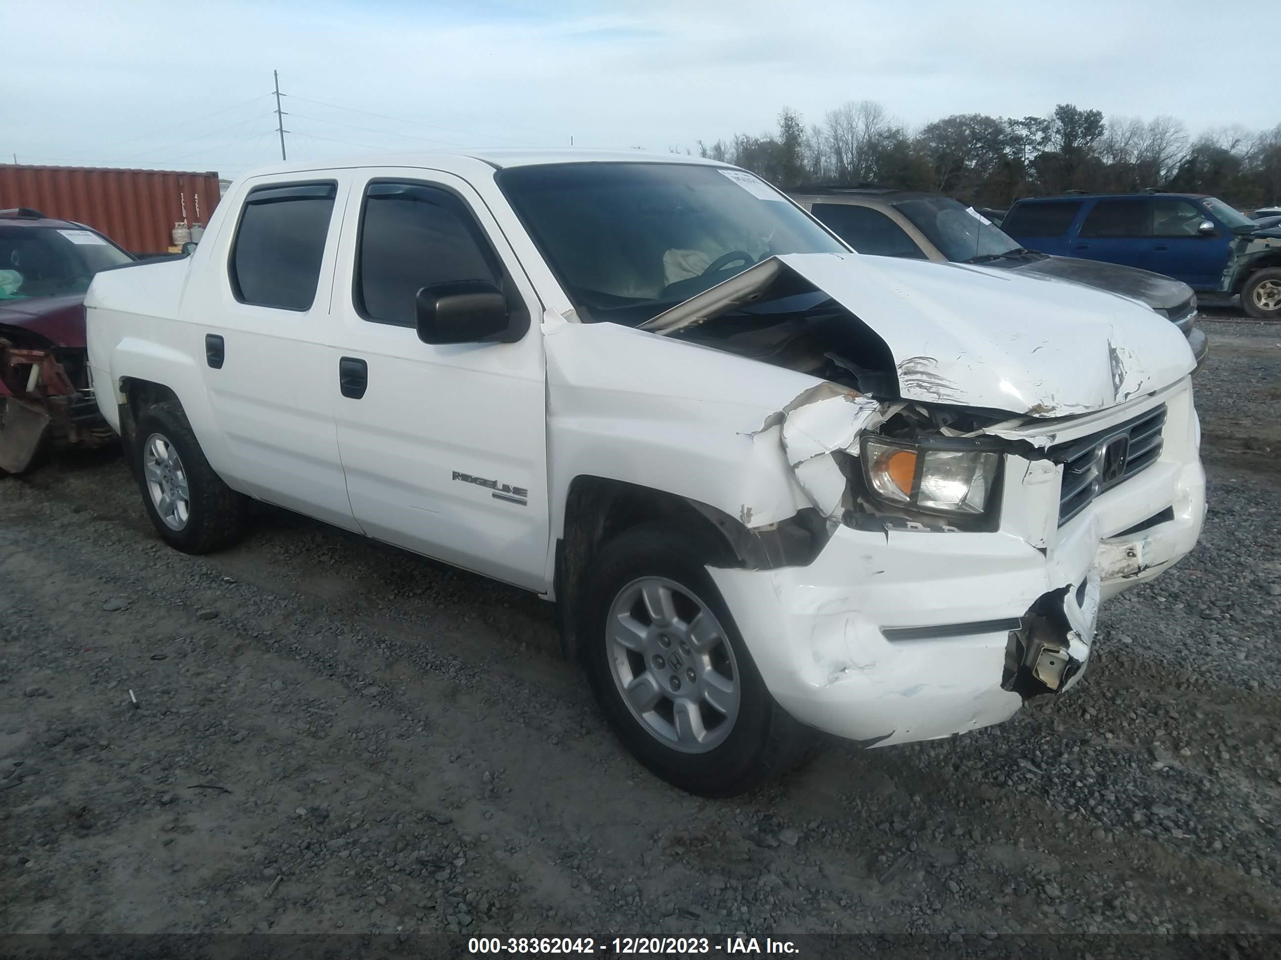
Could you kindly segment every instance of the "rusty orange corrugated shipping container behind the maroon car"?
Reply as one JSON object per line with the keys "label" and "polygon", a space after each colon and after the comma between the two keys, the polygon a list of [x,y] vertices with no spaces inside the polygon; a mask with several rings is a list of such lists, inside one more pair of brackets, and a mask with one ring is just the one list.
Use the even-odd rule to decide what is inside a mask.
{"label": "rusty orange corrugated shipping container behind the maroon car", "polygon": [[131,253],[167,253],[175,223],[209,225],[216,173],[0,164],[0,210],[29,206],[76,220]]}

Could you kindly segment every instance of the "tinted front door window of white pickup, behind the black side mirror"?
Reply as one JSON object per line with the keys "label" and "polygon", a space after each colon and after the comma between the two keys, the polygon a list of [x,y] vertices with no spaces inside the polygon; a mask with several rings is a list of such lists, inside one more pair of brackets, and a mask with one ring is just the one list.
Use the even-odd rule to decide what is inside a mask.
{"label": "tinted front door window of white pickup, behind the black side mirror", "polygon": [[356,251],[354,293],[360,315],[414,326],[418,292],[448,280],[502,287],[498,259],[471,211],[438,187],[371,183]]}

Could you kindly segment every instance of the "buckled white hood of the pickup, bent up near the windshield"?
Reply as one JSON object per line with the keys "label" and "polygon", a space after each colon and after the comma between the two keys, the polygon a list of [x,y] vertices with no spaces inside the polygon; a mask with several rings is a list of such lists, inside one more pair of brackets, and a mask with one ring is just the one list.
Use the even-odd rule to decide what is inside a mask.
{"label": "buckled white hood of the pickup, bent up near the windshield", "polygon": [[902,399],[1038,417],[1085,413],[1175,383],[1184,335],[1126,297],[1009,270],[857,253],[788,253],[642,324],[673,334],[799,275],[884,340]]}

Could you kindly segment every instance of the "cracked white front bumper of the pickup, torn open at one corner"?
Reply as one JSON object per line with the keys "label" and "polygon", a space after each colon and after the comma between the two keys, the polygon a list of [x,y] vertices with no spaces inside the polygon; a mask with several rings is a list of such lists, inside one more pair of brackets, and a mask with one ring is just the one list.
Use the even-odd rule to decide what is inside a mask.
{"label": "cracked white front bumper of the pickup, torn open at one corner", "polygon": [[710,568],[770,692],[803,723],[893,745],[999,723],[1071,689],[1100,602],[1157,576],[1200,532],[1190,388],[1168,402],[1162,460],[1050,524],[1044,541],[1031,531],[1040,500],[1057,507],[1056,475],[1007,468],[997,531],[842,525],[806,567]]}

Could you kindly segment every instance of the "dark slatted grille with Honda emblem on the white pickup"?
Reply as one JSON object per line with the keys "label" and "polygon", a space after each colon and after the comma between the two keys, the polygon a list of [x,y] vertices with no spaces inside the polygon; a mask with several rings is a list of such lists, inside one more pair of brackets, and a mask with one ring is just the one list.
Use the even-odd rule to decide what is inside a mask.
{"label": "dark slatted grille with Honda emblem on the white pickup", "polygon": [[1166,404],[1162,403],[1123,424],[1050,447],[1050,460],[1063,465],[1058,525],[1063,526],[1104,490],[1155,463],[1161,458],[1164,425]]}

